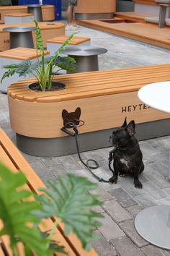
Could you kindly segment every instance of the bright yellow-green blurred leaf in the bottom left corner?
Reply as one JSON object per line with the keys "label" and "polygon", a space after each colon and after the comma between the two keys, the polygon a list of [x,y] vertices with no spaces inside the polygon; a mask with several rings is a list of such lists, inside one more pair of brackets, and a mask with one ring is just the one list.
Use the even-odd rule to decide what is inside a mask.
{"label": "bright yellow-green blurred leaf in the bottom left corner", "polygon": [[27,190],[18,189],[26,182],[27,179],[22,172],[13,174],[0,163],[0,218],[4,223],[0,236],[9,235],[13,252],[19,240],[36,255],[47,256],[50,254],[48,239],[43,239],[38,229],[27,226],[28,222],[38,222],[32,215],[32,210],[40,209],[40,204],[35,201],[23,201],[32,195]]}

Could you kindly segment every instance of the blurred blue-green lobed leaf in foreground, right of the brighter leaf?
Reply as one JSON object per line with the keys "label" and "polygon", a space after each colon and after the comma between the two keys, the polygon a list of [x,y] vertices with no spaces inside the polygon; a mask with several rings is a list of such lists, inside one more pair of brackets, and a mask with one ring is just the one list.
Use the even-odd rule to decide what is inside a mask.
{"label": "blurred blue-green lobed leaf in foreground, right of the brighter leaf", "polygon": [[53,180],[48,182],[52,189],[40,189],[47,196],[36,196],[42,204],[42,209],[37,211],[36,216],[61,218],[66,224],[66,236],[73,231],[79,237],[84,249],[89,250],[91,238],[95,238],[93,227],[101,226],[96,218],[103,217],[90,209],[91,206],[102,205],[102,202],[97,200],[98,195],[89,194],[89,190],[96,189],[97,184],[73,174],[68,174],[65,178],[59,176],[59,180],[59,184]]}

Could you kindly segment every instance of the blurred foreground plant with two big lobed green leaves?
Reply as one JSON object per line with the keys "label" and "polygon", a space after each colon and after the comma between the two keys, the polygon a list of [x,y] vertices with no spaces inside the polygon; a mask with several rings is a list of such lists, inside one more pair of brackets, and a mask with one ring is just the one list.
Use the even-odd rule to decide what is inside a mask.
{"label": "blurred foreground plant with two big lobed green leaves", "polygon": [[[49,181],[51,188],[40,189],[44,194],[35,195],[35,200],[29,200],[32,192],[21,188],[26,183],[22,172],[13,174],[0,163],[0,219],[4,224],[0,236],[9,236],[13,256],[19,256],[18,242],[23,243],[25,256],[31,255],[31,252],[41,256],[51,255],[54,251],[64,252],[62,246],[51,241],[58,218],[65,223],[66,236],[73,231],[82,247],[89,250],[91,239],[97,238],[93,227],[101,226],[96,218],[103,217],[91,210],[91,206],[102,205],[98,195],[89,194],[91,189],[97,188],[97,184],[84,177],[68,174],[64,178],[59,177],[59,183]],[[50,234],[42,235],[37,229],[38,223],[42,218],[52,216],[56,221]],[[32,223],[32,228],[27,223]]]}

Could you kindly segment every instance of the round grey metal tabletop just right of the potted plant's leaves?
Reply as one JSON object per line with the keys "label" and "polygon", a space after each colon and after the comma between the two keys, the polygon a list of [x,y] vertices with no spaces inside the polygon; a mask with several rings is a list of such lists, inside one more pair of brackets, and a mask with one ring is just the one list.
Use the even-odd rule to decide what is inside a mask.
{"label": "round grey metal tabletop just right of the potted plant's leaves", "polygon": [[107,49],[95,46],[68,46],[62,54],[68,54],[73,56],[93,56],[99,54],[105,54]]}

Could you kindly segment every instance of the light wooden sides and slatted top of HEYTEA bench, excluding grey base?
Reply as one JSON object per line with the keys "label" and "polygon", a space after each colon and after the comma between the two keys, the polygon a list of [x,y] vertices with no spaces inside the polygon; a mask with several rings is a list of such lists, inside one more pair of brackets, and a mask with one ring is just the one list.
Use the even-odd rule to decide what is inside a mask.
{"label": "light wooden sides and slatted top of HEYTEA bench, excluding grey base", "polygon": [[8,89],[12,129],[29,137],[63,137],[61,113],[77,107],[86,124],[80,133],[119,127],[125,116],[136,123],[167,119],[169,114],[148,108],[137,93],[143,85],[169,80],[169,73],[170,64],[65,74],[55,77],[66,83],[58,92],[27,90],[32,79],[16,82]]}

